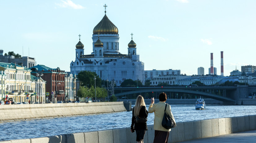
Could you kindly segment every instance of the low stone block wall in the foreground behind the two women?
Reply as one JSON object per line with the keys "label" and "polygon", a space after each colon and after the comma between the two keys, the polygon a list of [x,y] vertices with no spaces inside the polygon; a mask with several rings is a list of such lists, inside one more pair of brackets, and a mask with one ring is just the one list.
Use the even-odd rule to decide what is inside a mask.
{"label": "low stone block wall in the foreground behind the two women", "polygon": [[[170,131],[168,143],[214,137],[256,129],[256,115],[178,122]],[[153,143],[153,125],[148,125],[144,143]],[[70,133],[50,137],[2,141],[2,143],[133,143],[136,133],[130,128],[108,129],[84,133]]]}

